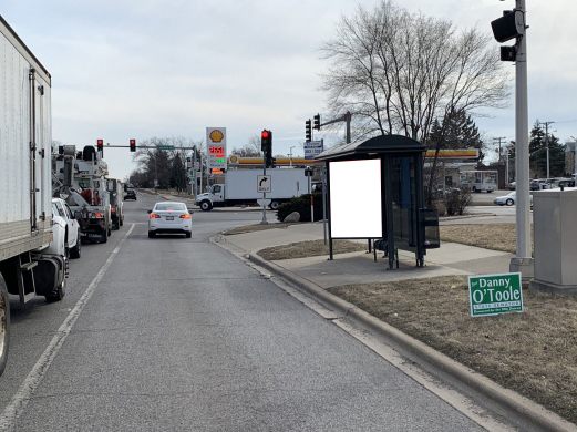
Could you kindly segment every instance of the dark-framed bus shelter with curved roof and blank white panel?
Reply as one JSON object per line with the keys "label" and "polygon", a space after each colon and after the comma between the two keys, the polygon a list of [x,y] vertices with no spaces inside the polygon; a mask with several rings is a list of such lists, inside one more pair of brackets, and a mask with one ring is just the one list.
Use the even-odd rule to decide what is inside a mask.
{"label": "dark-framed bus shelter with curved roof and blank white panel", "polygon": [[[333,239],[369,239],[384,250],[389,268],[398,249],[414,251],[424,266],[426,249],[440,247],[436,209],[424,208],[425,145],[402,135],[381,135],[326,150],[330,258]],[[370,251],[370,250],[369,250]]]}

